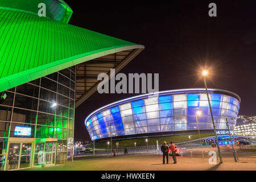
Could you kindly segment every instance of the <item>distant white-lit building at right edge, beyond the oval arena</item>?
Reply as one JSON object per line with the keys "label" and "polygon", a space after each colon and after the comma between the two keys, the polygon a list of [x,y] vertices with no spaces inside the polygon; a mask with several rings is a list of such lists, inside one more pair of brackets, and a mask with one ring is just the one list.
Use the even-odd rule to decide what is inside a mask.
{"label": "distant white-lit building at right edge, beyond the oval arena", "polygon": [[234,129],[236,135],[256,137],[256,115],[247,116],[239,115],[237,118],[237,125]]}

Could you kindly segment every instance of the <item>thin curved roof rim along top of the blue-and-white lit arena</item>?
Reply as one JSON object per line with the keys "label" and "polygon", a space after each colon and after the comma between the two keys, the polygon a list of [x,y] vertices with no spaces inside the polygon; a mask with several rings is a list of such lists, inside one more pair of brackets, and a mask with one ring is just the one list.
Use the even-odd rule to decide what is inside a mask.
{"label": "thin curved roof rim along top of the blue-and-white lit arena", "polygon": [[[205,88],[176,89],[176,90],[166,90],[166,91],[157,92],[157,93],[147,93],[147,94],[142,94],[142,95],[139,95],[139,96],[129,97],[129,98],[126,98],[124,100],[113,102],[112,104],[103,106],[100,109],[97,109],[97,110],[93,111],[92,113],[90,113],[88,115],[88,117],[85,118],[85,125],[86,125],[86,122],[88,121],[88,119],[90,117],[92,117],[93,115],[95,115],[97,113],[100,113],[101,111],[109,109],[110,107],[114,107],[114,106],[117,106],[117,105],[120,105],[120,104],[125,104],[126,102],[130,102],[130,101],[141,100],[143,98],[148,98],[148,97],[164,96],[164,95],[168,95],[168,94],[182,94],[182,93],[206,93],[206,90],[205,90]],[[241,98],[236,93],[230,92],[228,90],[208,89],[208,93],[226,94],[228,96],[232,96],[232,97],[237,98],[237,100],[239,102],[241,102]]]}

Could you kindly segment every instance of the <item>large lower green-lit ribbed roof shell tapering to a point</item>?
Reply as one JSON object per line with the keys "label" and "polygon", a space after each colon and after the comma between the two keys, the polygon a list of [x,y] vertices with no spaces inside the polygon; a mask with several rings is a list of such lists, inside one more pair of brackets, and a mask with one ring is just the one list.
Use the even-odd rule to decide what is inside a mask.
{"label": "large lower green-lit ribbed roof shell tapering to a point", "polygon": [[144,46],[1,6],[0,92],[97,57]]}

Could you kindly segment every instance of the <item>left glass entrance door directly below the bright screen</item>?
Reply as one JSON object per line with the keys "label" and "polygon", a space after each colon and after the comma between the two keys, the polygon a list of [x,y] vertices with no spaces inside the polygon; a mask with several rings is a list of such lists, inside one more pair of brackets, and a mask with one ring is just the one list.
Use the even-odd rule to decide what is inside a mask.
{"label": "left glass entrance door directly below the bright screen", "polygon": [[22,169],[31,166],[32,143],[10,143],[7,169]]}

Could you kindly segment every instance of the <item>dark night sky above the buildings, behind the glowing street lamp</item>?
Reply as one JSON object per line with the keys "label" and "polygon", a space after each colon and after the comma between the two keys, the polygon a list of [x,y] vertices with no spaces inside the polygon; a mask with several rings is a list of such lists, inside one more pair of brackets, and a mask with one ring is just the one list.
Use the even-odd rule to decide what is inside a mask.
{"label": "dark night sky above the buildings, behind the glowing street lamp", "polygon": [[[170,90],[204,87],[199,72],[210,68],[208,87],[237,93],[239,114],[256,115],[254,1],[65,2],[70,24],[145,46],[122,73],[159,73],[159,90]],[[217,17],[208,16],[211,2]],[[90,140],[88,114],[130,96],[94,93],[76,109],[75,140]]]}

